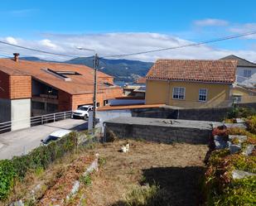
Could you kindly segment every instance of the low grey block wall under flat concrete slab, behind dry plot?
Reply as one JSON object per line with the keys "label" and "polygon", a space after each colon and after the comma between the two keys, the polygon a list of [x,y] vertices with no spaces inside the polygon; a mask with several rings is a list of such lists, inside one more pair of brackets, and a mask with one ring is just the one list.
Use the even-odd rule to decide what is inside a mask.
{"label": "low grey block wall under flat concrete slab, behind dry plot", "polygon": [[111,135],[121,139],[144,139],[166,144],[186,142],[190,144],[209,144],[210,129],[189,127],[159,127],[152,125],[131,125],[125,123],[105,122],[105,137]]}

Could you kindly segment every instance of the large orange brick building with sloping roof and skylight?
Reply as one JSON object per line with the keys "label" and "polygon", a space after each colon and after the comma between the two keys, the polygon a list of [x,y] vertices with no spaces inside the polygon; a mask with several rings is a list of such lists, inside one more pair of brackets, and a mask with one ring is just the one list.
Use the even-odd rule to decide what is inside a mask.
{"label": "large orange brick building with sloping roof and skylight", "polygon": [[[98,72],[99,107],[123,89],[114,78]],[[94,69],[84,65],[0,59],[0,122],[46,113],[75,110],[93,104]]]}

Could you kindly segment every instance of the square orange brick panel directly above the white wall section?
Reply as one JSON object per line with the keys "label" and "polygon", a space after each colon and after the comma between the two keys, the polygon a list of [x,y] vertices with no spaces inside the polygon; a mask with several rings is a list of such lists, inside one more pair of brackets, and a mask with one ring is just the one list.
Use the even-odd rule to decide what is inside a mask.
{"label": "square orange brick panel directly above the white wall section", "polygon": [[10,76],[11,99],[31,98],[31,76]]}

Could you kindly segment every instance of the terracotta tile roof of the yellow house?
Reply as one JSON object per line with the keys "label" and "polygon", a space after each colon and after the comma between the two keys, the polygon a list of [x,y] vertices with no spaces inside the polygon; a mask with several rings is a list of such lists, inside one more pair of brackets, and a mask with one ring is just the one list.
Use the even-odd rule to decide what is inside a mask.
{"label": "terracotta tile roof of the yellow house", "polygon": [[146,78],[232,84],[236,65],[236,60],[157,60]]}

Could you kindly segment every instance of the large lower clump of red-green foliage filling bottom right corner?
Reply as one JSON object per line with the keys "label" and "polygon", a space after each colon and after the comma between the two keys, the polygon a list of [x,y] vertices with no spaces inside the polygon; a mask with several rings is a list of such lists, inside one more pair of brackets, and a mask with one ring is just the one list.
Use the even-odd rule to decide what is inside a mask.
{"label": "large lower clump of red-green foliage filling bottom right corner", "polygon": [[256,156],[229,155],[229,151],[214,151],[205,173],[206,205],[256,204],[256,176],[232,179],[233,170],[256,172]]}

